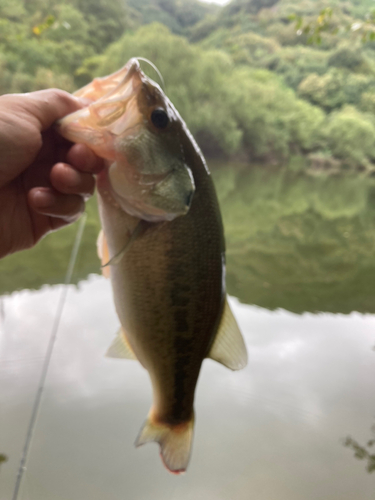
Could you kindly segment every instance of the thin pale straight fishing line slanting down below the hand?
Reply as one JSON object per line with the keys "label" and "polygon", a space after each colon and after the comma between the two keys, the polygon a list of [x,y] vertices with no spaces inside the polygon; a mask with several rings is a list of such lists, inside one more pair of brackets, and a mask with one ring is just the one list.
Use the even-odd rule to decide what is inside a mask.
{"label": "thin pale straight fishing line slanting down below the hand", "polygon": [[18,472],[17,472],[16,483],[14,486],[12,500],[18,499],[18,493],[19,493],[20,486],[22,483],[23,473],[26,470],[27,457],[28,457],[31,442],[33,439],[36,421],[38,419],[40,402],[42,399],[42,395],[43,395],[43,391],[44,391],[44,387],[45,387],[45,383],[46,383],[46,378],[47,378],[47,374],[48,374],[48,369],[49,369],[49,365],[50,365],[51,358],[52,358],[52,351],[53,351],[53,348],[55,345],[57,332],[58,332],[58,329],[60,326],[60,320],[61,320],[62,312],[64,309],[66,296],[68,294],[68,285],[70,285],[70,281],[72,279],[74,265],[76,263],[78,250],[79,250],[79,247],[80,247],[80,244],[82,241],[82,235],[83,235],[83,230],[85,228],[86,219],[87,219],[87,215],[83,214],[81,217],[79,226],[78,226],[75,240],[74,240],[72,253],[70,255],[69,265],[68,265],[68,269],[67,269],[66,275],[65,275],[64,288],[61,291],[60,299],[59,299],[59,302],[57,304],[56,316],[55,316],[55,320],[53,322],[51,335],[49,338],[48,347],[47,347],[46,355],[44,358],[42,373],[40,375],[39,385],[38,385],[38,389],[37,389],[37,392],[35,395],[32,411],[31,411],[31,417],[30,417],[28,428],[27,428],[25,444],[24,444],[24,447],[22,450],[22,455],[21,455],[21,460],[20,460]]}

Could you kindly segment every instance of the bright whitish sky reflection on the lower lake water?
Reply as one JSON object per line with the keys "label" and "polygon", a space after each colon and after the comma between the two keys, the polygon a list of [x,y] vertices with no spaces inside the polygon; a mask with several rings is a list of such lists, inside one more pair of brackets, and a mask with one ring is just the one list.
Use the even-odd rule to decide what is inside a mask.
{"label": "bright whitish sky reflection on the lower lake water", "polygon": [[[44,287],[5,298],[1,500],[11,498],[59,295]],[[205,361],[191,466],[175,478],[156,446],[133,447],[150,384],[138,363],[103,356],[118,327],[108,281],[71,286],[27,467],[30,500],[372,500],[374,475],[342,439],[365,440],[375,413],[375,317],[232,306],[249,366],[232,373]]]}

